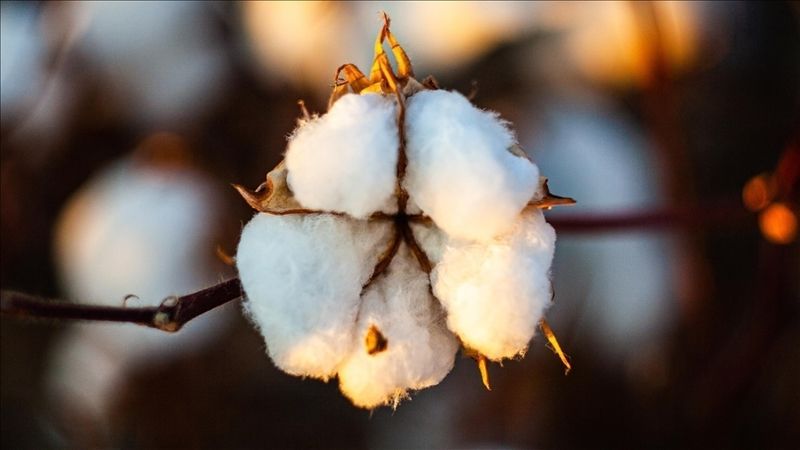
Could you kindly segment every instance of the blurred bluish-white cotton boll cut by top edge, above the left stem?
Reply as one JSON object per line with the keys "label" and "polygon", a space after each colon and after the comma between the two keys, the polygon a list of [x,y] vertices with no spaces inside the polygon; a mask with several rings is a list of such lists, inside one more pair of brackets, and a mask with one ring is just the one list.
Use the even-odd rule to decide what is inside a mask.
{"label": "blurred bluish-white cotton boll cut by top edge, above the left stem", "polygon": [[113,101],[144,125],[174,126],[202,115],[228,75],[206,2],[68,4],[76,46],[109,83]]}

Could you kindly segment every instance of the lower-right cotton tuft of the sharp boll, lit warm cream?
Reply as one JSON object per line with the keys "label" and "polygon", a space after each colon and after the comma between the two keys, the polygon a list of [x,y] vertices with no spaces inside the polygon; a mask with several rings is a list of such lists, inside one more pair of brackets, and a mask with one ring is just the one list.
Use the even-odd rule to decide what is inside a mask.
{"label": "lower-right cotton tuft of the sharp boll, lit warm cream", "polygon": [[490,242],[447,244],[431,274],[433,292],[466,347],[495,361],[525,352],[550,304],[555,238],[534,209]]}

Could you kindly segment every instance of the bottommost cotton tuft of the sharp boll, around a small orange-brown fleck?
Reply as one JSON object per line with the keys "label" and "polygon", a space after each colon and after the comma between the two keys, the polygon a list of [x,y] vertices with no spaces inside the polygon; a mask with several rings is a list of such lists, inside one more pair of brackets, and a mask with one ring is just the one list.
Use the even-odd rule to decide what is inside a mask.
{"label": "bottommost cotton tuft of the sharp boll, around a small orange-brown fleck", "polygon": [[[408,390],[438,384],[453,367],[458,342],[431,297],[428,275],[403,244],[388,272],[364,295],[351,356],[339,369],[342,392],[354,404],[395,404]],[[370,355],[365,336],[375,326],[387,340]]]}

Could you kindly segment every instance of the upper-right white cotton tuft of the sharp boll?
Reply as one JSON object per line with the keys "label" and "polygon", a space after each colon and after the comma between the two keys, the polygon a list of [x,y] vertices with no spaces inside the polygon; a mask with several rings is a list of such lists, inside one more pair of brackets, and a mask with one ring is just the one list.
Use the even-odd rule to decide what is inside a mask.
{"label": "upper-right white cotton tuft of the sharp boll", "polygon": [[513,133],[463,95],[422,91],[408,99],[404,186],[449,235],[486,241],[507,232],[535,193],[539,169],[509,149]]}

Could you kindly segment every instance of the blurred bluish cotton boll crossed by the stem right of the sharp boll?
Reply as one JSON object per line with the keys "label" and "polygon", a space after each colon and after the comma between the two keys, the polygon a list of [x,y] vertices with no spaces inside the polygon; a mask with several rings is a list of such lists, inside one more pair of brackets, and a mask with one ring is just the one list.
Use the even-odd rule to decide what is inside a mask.
{"label": "blurred bluish cotton boll crossed by the stem right of the sharp boll", "polygon": [[[562,101],[542,117],[540,131],[527,144],[553,189],[580,199],[573,209],[549,216],[610,214],[666,203],[649,144],[612,107]],[[580,330],[573,345],[596,348],[609,363],[658,345],[677,314],[672,277],[679,260],[673,244],[663,234],[628,230],[563,235],[553,270],[558,305],[553,321],[573,321]],[[563,315],[567,312],[570,317]]]}

